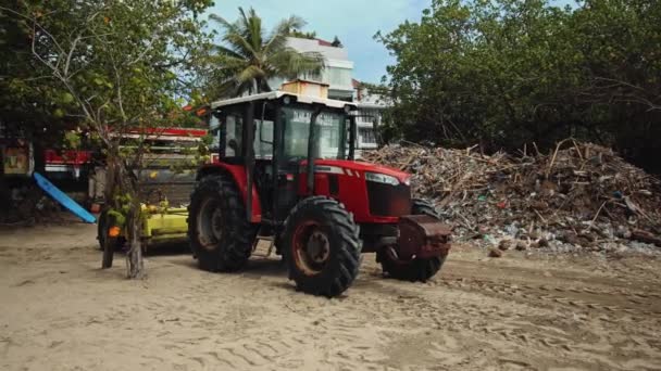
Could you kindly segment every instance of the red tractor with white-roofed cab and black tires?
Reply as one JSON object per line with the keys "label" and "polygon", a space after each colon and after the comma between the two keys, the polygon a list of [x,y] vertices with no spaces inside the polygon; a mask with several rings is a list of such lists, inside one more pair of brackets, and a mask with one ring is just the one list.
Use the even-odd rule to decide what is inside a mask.
{"label": "red tractor with white-roofed cab and black tires", "polygon": [[361,253],[397,279],[440,269],[450,229],[411,199],[410,175],[353,161],[353,103],[274,91],[210,111],[219,161],[198,171],[188,220],[202,269],[240,269],[260,240],[300,291],[328,297],[351,285]]}

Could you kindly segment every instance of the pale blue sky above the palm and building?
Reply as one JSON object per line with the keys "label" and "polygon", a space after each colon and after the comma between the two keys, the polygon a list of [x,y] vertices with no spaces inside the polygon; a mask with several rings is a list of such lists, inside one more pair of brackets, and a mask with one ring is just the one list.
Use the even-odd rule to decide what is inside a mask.
{"label": "pale blue sky above the palm and building", "polygon": [[[397,28],[404,21],[420,21],[422,11],[432,0],[215,0],[208,13],[234,21],[238,8],[254,8],[267,30],[289,15],[298,15],[308,22],[305,31],[316,31],[317,38],[332,41],[339,38],[354,62],[353,78],[366,82],[379,82],[386,66],[395,60],[383,44],[374,40],[377,31],[384,34]],[[556,5],[573,2],[554,0]]]}

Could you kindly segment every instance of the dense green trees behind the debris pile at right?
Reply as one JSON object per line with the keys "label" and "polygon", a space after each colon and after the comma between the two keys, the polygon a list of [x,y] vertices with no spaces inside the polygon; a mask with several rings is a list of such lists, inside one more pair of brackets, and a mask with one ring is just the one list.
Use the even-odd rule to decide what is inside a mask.
{"label": "dense green trees behind the debris pile at right", "polygon": [[661,2],[435,0],[375,37],[396,56],[384,135],[487,150],[559,139],[659,156]]}

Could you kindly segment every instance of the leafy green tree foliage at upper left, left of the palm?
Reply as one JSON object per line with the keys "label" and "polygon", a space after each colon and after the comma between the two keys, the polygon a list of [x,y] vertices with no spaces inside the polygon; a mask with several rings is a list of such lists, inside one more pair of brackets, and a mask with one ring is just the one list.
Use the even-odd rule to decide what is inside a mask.
{"label": "leafy green tree foliage at upper left, left of the palm", "polygon": [[[196,90],[209,35],[197,14],[210,0],[21,1],[0,8],[0,104],[102,132],[177,126],[177,97]],[[34,49],[34,52],[33,52]],[[36,110],[35,110],[36,108]],[[103,136],[102,136],[103,137]]]}

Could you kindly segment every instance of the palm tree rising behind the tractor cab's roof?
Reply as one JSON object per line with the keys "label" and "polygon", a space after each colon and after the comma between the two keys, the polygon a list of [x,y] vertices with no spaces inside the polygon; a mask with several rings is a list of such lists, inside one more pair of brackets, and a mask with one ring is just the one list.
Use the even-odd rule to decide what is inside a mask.
{"label": "palm tree rising behind the tractor cab's roof", "polygon": [[280,21],[270,35],[264,35],[262,18],[252,8],[248,14],[239,8],[239,20],[234,23],[219,15],[210,16],[224,28],[224,44],[214,47],[213,56],[220,65],[219,94],[237,97],[245,92],[271,91],[269,79],[272,77],[294,79],[324,68],[320,53],[301,53],[287,46],[290,31],[305,25],[302,18],[292,15]]}

